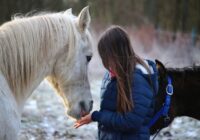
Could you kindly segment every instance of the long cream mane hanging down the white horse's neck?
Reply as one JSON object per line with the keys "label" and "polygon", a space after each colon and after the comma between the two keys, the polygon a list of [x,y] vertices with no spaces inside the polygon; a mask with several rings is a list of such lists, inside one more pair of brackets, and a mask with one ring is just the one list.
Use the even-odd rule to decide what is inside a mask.
{"label": "long cream mane hanging down the white horse's neck", "polygon": [[53,52],[66,44],[73,55],[76,31],[71,14],[49,13],[14,18],[0,27],[0,72],[14,94],[22,92],[48,66]]}

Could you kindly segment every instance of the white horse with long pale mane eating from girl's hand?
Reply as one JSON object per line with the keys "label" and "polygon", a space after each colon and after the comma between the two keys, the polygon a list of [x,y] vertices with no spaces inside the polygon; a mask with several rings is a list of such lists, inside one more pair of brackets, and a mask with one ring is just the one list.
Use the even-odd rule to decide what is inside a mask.
{"label": "white horse with long pale mane eating from girl's hand", "polygon": [[76,119],[92,109],[87,64],[92,56],[85,7],[15,18],[0,27],[0,140],[16,140],[27,98],[45,78]]}

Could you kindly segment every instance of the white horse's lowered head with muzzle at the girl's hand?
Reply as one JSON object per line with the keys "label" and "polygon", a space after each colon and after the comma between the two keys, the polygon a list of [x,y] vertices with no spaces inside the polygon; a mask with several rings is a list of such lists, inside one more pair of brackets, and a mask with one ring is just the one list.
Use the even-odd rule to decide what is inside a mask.
{"label": "white horse's lowered head with muzzle at the girl's hand", "polygon": [[[72,16],[71,9],[63,14]],[[87,66],[92,57],[88,7],[78,17],[73,16],[71,23],[73,26],[68,29],[68,34],[72,35],[68,37],[67,47],[58,55],[52,74],[47,80],[62,97],[67,114],[78,119],[91,111],[93,103],[87,76]]]}

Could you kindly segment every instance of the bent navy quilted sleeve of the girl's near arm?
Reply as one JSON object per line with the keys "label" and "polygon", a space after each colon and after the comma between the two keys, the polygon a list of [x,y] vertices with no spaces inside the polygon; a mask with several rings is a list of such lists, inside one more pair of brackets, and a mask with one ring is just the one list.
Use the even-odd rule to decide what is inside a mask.
{"label": "bent navy quilted sleeve of the girl's near arm", "polygon": [[116,131],[128,132],[138,130],[149,111],[153,95],[148,85],[146,85],[147,83],[144,83],[144,80],[136,80],[136,82],[138,82],[137,85],[139,87],[133,90],[134,108],[131,112],[122,114],[109,110],[94,111],[92,113],[92,120]]}

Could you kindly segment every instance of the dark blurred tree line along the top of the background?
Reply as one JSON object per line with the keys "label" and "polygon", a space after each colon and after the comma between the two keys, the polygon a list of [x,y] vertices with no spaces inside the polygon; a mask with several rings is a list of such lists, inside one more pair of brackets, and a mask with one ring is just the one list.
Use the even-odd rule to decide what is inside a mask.
{"label": "dark blurred tree line along the top of the background", "polygon": [[0,23],[16,13],[67,8],[77,13],[86,5],[100,24],[151,24],[156,29],[200,33],[199,0],[0,0]]}

